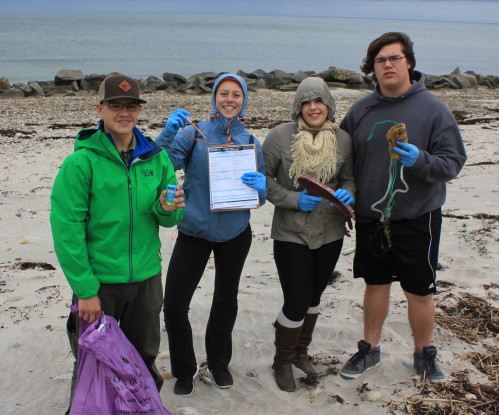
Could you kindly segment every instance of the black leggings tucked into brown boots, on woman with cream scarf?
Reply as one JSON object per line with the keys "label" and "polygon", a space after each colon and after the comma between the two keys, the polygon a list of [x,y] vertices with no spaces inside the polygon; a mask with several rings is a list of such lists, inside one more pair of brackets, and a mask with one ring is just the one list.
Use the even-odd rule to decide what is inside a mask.
{"label": "black leggings tucked into brown boots, on woman with cream scarf", "polygon": [[282,311],[286,318],[301,321],[310,307],[320,304],[342,246],[343,238],[318,249],[274,240],[274,260],[284,294]]}

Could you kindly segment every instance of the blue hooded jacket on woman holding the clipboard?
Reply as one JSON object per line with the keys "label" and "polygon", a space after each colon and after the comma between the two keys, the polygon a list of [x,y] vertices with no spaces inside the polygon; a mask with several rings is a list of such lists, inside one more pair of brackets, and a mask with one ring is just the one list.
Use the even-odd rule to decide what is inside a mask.
{"label": "blue hooded jacket on woman holding the clipboard", "polygon": [[[215,93],[226,78],[236,80],[244,93],[244,101],[238,117],[227,120],[218,112],[215,104]],[[234,74],[224,74],[218,77],[211,97],[213,111],[210,119],[200,122],[197,127],[206,138],[202,138],[193,126],[185,130],[196,138],[211,143],[210,145],[193,140],[186,132],[180,130],[176,135],[163,129],[156,138],[156,143],[166,150],[175,170],[183,169],[185,179],[183,189],[185,192],[184,219],[177,227],[180,232],[203,238],[211,242],[225,242],[235,238],[248,226],[250,219],[249,209],[212,212],[210,210],[210,194],[208,181],[208,151],[207,147],[213,144],[227,144],[230,136],[232,144],[255,144],[257,152],[258,171],[265,174],[260,142],[245,129],[242,117],[248,106],[248,89],[243,78]],[[266,198],[260,197],[260,205]]]}

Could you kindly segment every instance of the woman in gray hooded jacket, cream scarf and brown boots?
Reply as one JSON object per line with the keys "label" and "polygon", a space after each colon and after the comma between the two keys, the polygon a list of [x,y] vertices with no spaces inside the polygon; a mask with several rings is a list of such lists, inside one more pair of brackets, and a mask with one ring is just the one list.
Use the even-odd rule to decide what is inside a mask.
{"label": "woman in gray hooded jacket, cream scarf and brown boots", "polygon": [[336,105],[321,78],[304,79],[293,103],[293,121],[269,132],[263,143],[268,200],[275,206],[271,238],[284,304],[275,322],[274,376],[280,389],[296,389],[291,365],[317,375],[308,346],[320,298],[338,261],[345,224],[342,213],[311,196],[298,178],[307,174],[353,203],[350,136],[334,123]]}

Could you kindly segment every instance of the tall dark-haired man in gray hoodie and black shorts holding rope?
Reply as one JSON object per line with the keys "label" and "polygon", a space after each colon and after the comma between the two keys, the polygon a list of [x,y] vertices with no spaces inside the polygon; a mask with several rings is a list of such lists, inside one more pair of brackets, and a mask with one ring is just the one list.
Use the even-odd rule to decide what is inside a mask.
{"label": "tall dark-haired man in gray hoodie and black shorts holding rope", "polygon": [[391,283],[399,281],[414,338],[414,368],[432,381],[445,380],[432,345],[441,206],[445,183],[457,176],[466,153],[452,113],[426,90],[415,66],[406,34],[385,33],[371,42],[362,71],[373,73],[376,90],[341,122],[352,137],[357,184],[354,277],[366,283],[364,339],[340,372],[345,378],[380,363]]}

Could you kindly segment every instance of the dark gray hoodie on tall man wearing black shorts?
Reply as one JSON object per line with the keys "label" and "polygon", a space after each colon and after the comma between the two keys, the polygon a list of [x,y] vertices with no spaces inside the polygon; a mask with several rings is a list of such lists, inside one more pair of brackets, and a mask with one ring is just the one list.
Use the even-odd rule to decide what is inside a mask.
{"label": "dark gray hoodie on tall man wearing black shorts", "polygon": [[[421,73],[413,71],[413,77],[416,81],[406,94],[388,98],[377,89],[352,105],[341,122],[341,128],[352,136],[357,185],[355,211],[360,220],[380,219],[371,206],[383,198],[389,182],[386,132],[394,124],[376,126],[368,141],[376,123],[386,120],[405,123],[409,143],[419,148],[416,163],[404,168],[409,191],[395,195],[391,219],[412,219],[441,207],[446,196],[445,182],[454,179],[466,161],[454,116],[426,90]],[[401,187],[401,181],[397,180],[396,188]],[[378,207],[382,210],[385,206]]]}

